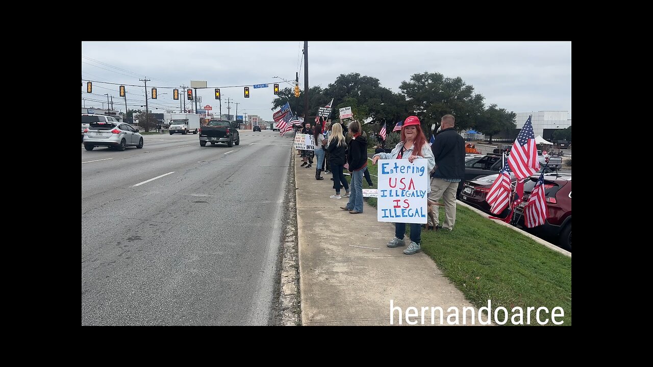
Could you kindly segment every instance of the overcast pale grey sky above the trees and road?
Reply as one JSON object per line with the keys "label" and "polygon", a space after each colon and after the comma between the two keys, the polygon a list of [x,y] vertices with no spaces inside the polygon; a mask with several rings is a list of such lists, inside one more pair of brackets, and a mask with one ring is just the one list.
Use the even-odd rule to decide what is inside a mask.
{"label": "overcast pale grey sky above the trees and road", "polygon": [[[210,89],[198,90],[202,106],[209,104],[217,112],[214,88],[220,88],[223,114],[231,99],[232,115],[238,103],[238,115],[246,112],[272,121],[272,84],[291,87],[280,78],[294,83],[299,72],[304,90],[303,48],[304,41],[82,42],[82,107],[106,107],[108,93],[114,109],[124,111],[125,99],[118,91],[122,84],[129,109],[141,109],[145,90],[139,79],[147,78],[148,96],[151,87],[158,93],[148,101],[150,110],[178,112],[180,101],[172,99],[172,89],[205,80]],[[496,103],[513,112],[562,110],[571,118],[571,42],[308,42],[309,87],[327,88],[340,74],[351,72],[377,78],[394,92],[421,72],[460,76],[485,97],[486,105]],[[88,80],[93,81],[90,94]],[[254,89],[254,84],[269,87]],[[249,86],[248,99],[243,86]]]}

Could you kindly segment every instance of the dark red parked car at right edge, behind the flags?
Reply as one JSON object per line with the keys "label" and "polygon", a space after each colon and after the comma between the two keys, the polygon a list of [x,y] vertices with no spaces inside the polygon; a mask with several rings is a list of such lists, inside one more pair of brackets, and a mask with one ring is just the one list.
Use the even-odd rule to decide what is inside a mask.
{"label": "dark red parked car at right edge, behind the flags", "polygon": [[545,176],[547,219],[543,225],[526,228],[522,212],[538,179],[539,176],[534,175],[524,183],[524,201],[515,208],[513,224],[538,237],[552,239],[558,246],[571,251],[571,174],[557,177]]}

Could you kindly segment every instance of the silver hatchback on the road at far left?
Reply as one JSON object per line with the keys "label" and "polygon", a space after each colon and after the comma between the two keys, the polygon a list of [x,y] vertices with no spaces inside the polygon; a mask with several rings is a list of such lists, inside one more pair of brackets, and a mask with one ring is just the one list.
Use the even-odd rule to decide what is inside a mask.
{"label": "silver hatchback on the road at far left", "polygon": [[84,131],[84,148],[93,150],[96,146],[125,150],[128,146],[143,148],[143,136],[129,123],[91,122]]}

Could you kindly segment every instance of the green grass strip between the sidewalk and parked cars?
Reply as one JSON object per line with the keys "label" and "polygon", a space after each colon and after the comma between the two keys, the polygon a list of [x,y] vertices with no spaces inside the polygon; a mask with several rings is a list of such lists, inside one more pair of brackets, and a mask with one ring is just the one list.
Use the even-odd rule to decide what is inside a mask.
{"label": "green grass strip between the sidewalk and parked cars", "polygon": [[[371,175],[377,175],[377,167],[368,160]],[[351,180],[351,176],[345,177]],[[378,188],[378,178],[370,177],[373,187]],[[367,188],[367,183],[363,187]],[[377,199],[364,200],[376,208]],[[438,208],[443,221],[444,207]],[[454,231],[422,231],[421,245],[422,251],[476,307],[486,307],[491,300],[492,310],[503,306],[513,315],[511,310],[516,306],[524,313],[527,307],[537,310],[543,306],[549,310],[547,325],[553,325],[552,309],[562,307],[564,317],[556,319],[564,321],[562,325],[571,325],[571,258],[464,206],[456,210]],[[500,315],[503,317],[503,313]],[[535,311],[530,325],[539,325]]]}

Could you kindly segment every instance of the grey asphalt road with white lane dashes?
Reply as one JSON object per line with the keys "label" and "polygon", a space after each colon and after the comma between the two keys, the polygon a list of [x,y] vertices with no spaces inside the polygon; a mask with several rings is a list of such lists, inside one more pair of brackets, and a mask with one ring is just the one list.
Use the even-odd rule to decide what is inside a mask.
{"label": "grey asphalt road with white lane dashes", "polygon": [[82,146],[82,325],[269,325],[293,134]]}

